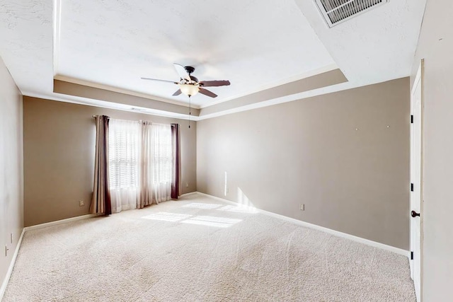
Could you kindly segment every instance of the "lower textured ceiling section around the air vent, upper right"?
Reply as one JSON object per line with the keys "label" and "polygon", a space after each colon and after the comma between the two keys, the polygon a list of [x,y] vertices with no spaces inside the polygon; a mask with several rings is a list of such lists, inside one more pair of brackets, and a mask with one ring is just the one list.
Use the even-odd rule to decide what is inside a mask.
{"label": "lower textured ceiling section around the air vent, upper right", "polygon": [[350,85],[399,79],[411,74],[426,0],[390,0],[333,28],[314,0],[294,0]]}

